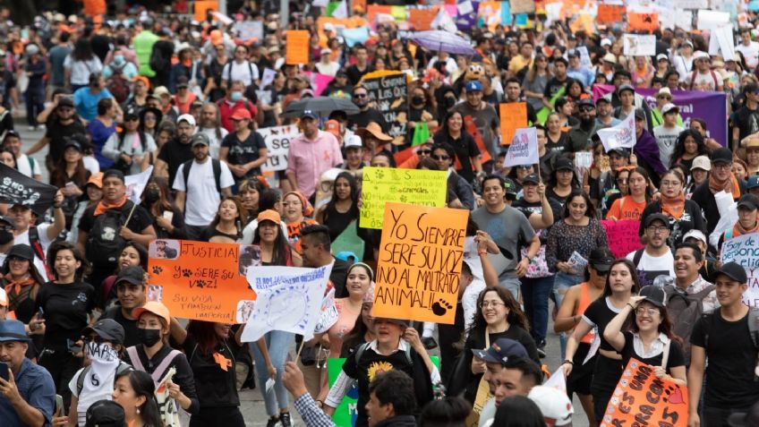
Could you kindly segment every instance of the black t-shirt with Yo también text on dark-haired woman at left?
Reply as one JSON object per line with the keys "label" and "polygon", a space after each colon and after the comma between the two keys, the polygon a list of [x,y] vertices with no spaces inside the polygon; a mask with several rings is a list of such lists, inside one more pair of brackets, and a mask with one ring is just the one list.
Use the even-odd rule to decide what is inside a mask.
{"label": "black t-shirt with Yo tambi\u00e9n text on dark-haired woman at left", "polygon": [[39,287],[35,311],[40,307],[45,311],[45,346],[65,350],[66,340],[76,341],[87,327],[87,316],[95,309],[95,288],[82,282],[48,282]]}

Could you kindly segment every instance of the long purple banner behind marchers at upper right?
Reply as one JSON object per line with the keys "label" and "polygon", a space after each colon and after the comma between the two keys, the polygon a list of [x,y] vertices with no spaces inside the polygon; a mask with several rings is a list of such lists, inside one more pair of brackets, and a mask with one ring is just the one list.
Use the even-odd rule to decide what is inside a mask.
{"label": "long purple banner behind marchers at upper right", "polygon": [[[614,90],[610,85],[593,85],[593,99]],[[652,109],[656,107],[656,92],[654,89],[635,88],[635,93],[645,97],[645,102]],[[692,118],[706,121],[709,136],[727,147],[728,142],[728,105],[727,95],[722,92],[700,92],[695,90],[672,91],[672,103],[680,108],[683,126],[690,127]]]}

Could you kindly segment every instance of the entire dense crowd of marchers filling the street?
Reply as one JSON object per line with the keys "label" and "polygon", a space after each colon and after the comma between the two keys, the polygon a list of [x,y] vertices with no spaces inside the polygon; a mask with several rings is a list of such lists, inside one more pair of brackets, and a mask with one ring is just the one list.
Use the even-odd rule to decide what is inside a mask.
{"label": "entire dense crowd of marchers filling the street", "polygon": [[[451,55],[395,21],[348,43],[318,24],[321,7],[291,4],[283,25],[261,3],[231,13],[260,38],[212,13],[139,7],[0,22],[0,161],[57,189],[44,211],[0,204],[0,424],[244,426],[264,421],[240,409],[256,388],[268,427],[293,425],[293,406],[307,426],[335,425],[346,396],[359,427],[571,425],[573,397],[598,426],[635,358],[687,386],[689,427],[759,425],[753,270],[721,262],[723,243],[759,231],[755,30],[738,29],[734,56],[678,27],[654,31],[655,55],[626,56],[618,29],[538,14],[526,29],[474,28],[473,55]],[[310,31],[308,63],[286,61],[295,29]],[[407,81],[401,115],[362,85],[390,71]],[[315,73],[329,80],[319,93]],[[725,94],[727,134],[681,115],[684,90]],[[318,96],[355,109],[288,110]],[[507,167],[499,105],[520,102],[539,161]],[[14,127],[21,105],[38,141]],[[408,132],[391,135],[391,117]],[[628,117],[632,148],[601,141]],[[300,133],[270,172],[259,130],[281,125]],[[135,203],[126,180],[151,167]],[[372,316],[382,230],[358,223],[363,167],[445,171],[446,207],[470,211],[454,324]],[[642,248],[615,256],[601,220],[637,221]],[[350,234],[362,256],[333,251]],[[246,343],[243,325],[177,319],[150,295],[157,239],[333,264],[337,321],[307,341],[273,330]],[[549,339],[566,393],[542,385],[559,368],[543,365]]]}

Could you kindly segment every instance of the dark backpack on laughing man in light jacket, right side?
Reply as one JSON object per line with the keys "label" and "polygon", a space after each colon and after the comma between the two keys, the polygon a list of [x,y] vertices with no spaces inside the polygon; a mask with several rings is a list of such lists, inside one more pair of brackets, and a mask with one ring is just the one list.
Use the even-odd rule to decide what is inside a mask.
{"label": "dark backpack on laughing man in light jacket, right side", "polygon": [[695,294],[683,294],[673,285],[664,286],[664,293],[667,295],[667,314],[672,322],[672,332],[683,338],[686,366],[690,365],[690,334],[693,332],[695,322],[704,314],[704,298],[716,287],[710,285]]}

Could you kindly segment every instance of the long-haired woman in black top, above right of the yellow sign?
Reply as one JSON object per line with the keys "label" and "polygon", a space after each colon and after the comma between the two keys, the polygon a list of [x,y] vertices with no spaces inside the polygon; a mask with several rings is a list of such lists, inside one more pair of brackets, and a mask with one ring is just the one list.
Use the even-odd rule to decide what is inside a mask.
{"label": "long-haired woman in black top, above right of the yellow sign", "polygon": [[464,115],[456,110],[446,113],[443,125],[432,137],[436,144],[447,143],[456,151],[456,160],[459,167],[456,174],[461,175],[467,183],[472,183],[475,174],[482,172],[480,163],[480,149],[474,142],[471,133],[466,132],[464,127]]}

